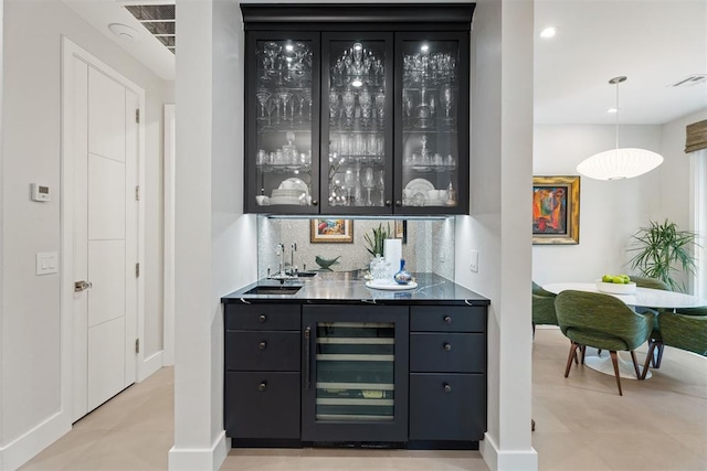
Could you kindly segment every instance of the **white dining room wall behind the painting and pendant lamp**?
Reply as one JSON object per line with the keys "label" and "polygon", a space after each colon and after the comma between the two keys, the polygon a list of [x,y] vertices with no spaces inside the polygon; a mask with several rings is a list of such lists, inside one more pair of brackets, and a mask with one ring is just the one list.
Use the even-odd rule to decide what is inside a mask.
{"label": "white dining room wall behind the painting and pendant lamp", "polygon": [[[662,152],[659,126],[620,126],[619,138],[621,147]],[[532,173],[577,175],[579,162],[614,147],[614,126],[538,125]],[[661,185],[663,172],[669,172],[673,165],[666,157],[663,165],[634,179],[600,181],[581,176],[579,245],[532,246],[532,279],[538,283],[592,281],[603,274],[630,274],[626,264],[631,253],[626,248],[631,235],[651,218],[673,218],[662,210],[665,194]],[[679,181],[686,183],[685,176]],[[675,192],[684,193],[679,196],[683,205],[687,204],[686,192]]]}

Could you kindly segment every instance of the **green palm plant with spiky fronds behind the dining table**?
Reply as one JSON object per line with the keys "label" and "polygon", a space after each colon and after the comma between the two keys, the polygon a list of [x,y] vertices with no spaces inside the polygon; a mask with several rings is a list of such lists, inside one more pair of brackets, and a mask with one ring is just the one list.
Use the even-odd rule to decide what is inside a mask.
{"label": "green palm plant with spiky fronds behind the dining table", "polygon": [[676,275],[695,272],[695,248],[697,233],[680,231],[677,224],[665,220],[664,223],[650,221],[647,227],[641,227],[632,236],[629,251],[635,255],[629,263],[644,277],[665,281],[671,289],[685,291],[685,283]]}

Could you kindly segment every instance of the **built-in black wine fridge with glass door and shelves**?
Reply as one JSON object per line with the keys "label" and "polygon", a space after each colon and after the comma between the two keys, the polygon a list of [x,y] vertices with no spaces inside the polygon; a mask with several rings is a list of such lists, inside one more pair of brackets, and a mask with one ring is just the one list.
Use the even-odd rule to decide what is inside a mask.
{"label": "built-in black wine fridge with glass door and shelves", "polygon": [[408,439],[408,307],[303,307],[302,439]]}

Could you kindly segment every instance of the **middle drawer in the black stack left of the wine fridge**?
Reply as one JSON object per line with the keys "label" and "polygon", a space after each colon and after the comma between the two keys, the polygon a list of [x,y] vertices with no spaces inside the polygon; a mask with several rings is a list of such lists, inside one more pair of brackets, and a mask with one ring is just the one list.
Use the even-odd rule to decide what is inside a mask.
{"label": "middle drawer in the black stack left of the wine fridge", "polygon": [[226,332],[225,368],[299,371],[299,332]]}

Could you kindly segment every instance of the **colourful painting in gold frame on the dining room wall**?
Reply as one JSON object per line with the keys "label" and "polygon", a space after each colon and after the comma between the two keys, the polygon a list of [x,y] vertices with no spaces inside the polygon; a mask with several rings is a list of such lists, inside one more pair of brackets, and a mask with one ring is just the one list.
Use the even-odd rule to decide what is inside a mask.
{"label": "colourful painting in gold frame on the dining room wall", "polygon": [[579,244],[579,175],[532,178],[532,244]]}

